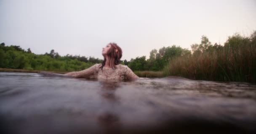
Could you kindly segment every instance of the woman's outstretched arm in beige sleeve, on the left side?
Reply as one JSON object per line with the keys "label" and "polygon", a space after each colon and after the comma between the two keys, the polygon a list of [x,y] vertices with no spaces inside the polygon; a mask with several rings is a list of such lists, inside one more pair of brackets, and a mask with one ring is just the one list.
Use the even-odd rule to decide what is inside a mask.
{"label": "woman's outstretched arm in beige sleeve, on the left side", "polygon": [[82,71],[77,71],[77,72],[69,72],[64,75],[71,76],[71,77],[77,77],[77,78],[91,78],[91,77],[94,77],[94,72],[98,66],[99,66],[99,64],[95,64],[95,65],[89,67],[88,69],[85,69]]}

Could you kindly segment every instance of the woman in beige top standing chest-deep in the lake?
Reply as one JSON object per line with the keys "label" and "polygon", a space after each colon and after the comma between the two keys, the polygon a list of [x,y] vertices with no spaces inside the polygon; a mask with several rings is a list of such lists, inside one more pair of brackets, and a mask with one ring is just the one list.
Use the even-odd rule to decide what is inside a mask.
{"label": "woman in beige top standing chest-deep in the lake", "polygon": [[122,49],[117,44],[107,44],[102,49],[102,55],[104,61],[101,64],[95,64],[86,70],[69,72],[65,75],[98,80],[136,80],[139,78],[129,67],[120,64]]}

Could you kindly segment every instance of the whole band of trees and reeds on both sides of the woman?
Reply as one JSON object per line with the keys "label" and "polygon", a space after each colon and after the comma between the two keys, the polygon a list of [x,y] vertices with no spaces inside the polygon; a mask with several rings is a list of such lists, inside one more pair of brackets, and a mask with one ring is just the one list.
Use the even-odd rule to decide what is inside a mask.
{"label": "whole band of trees and reeds on both sides of the woman", "polygon": [[[172,45],[153,49],[146,56],[123,60],[133,71],[161,71],[164,76],[181,76],[195,80],[256,82],[256,31],[245,37],[236,33],[221,45],[212,44],[202,36],[191,51]],[[51,50],[34,54],[20,46],[0,44],[0,67],[44,71],[79,71],[101,63],[102,59],[67,54],[60,56]]]}

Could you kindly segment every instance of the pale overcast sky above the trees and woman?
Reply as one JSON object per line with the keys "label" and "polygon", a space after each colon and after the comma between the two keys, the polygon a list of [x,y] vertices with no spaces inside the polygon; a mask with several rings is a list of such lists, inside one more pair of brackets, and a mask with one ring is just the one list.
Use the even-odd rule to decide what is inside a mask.
{"label": "pale overcast sky above the trees and woman", "polygon": [[103,59],[109,42],[122,60],[152,49],[191,49],[205,35],[224,44],[256,30],[256,0],[0,0],[0,43],[35,54],[54,49]]}

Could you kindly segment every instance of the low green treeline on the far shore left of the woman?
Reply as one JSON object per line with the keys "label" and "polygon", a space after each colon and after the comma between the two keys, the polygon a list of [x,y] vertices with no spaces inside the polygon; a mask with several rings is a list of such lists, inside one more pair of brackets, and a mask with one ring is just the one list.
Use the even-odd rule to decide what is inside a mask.
{"label": "low green treeline on the far shore left of the woman", "polygon": [[69,54],[60,56],[54,50],[50,53],[34,54],[30,49],[25,51],[20,46],[0,44],[0,68],[69,72],[84,70],[101,62],[101,59],[94,57]]}

